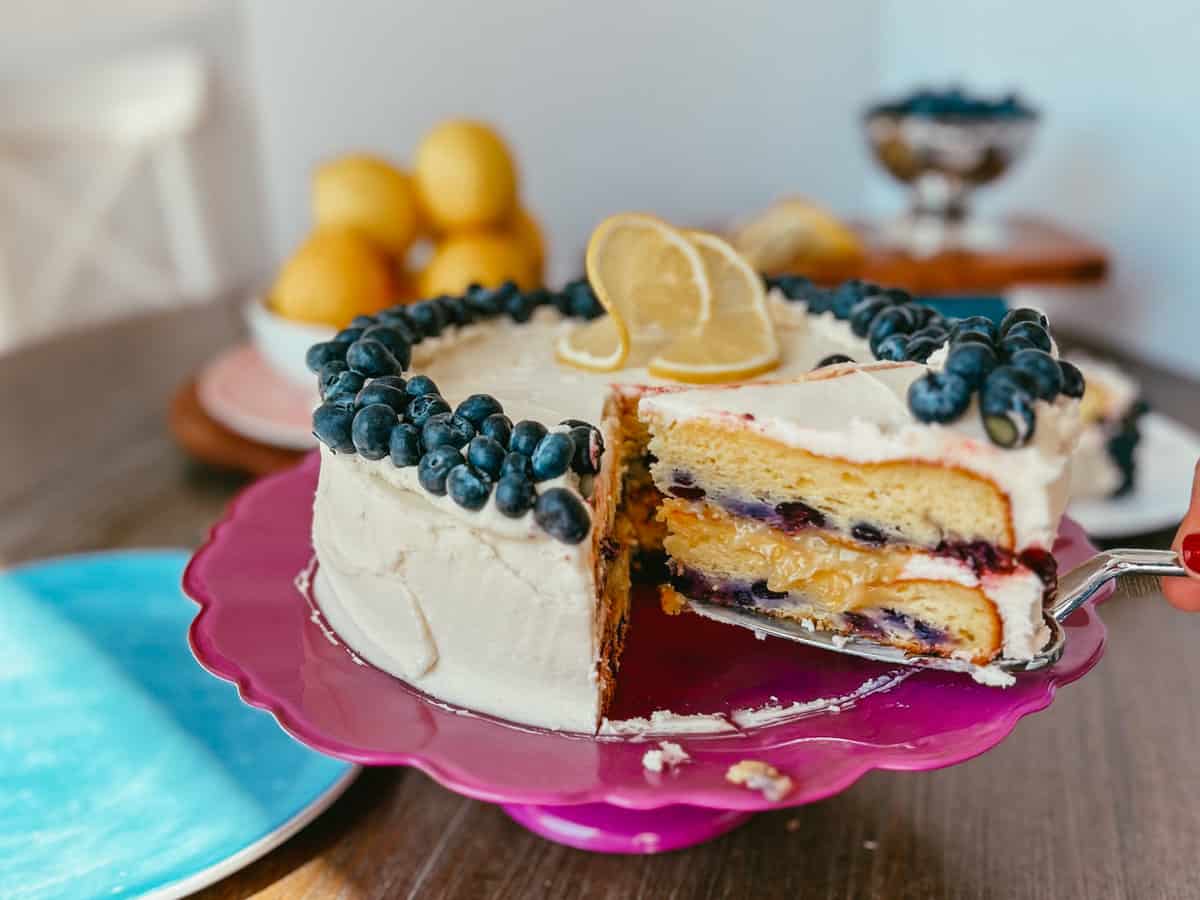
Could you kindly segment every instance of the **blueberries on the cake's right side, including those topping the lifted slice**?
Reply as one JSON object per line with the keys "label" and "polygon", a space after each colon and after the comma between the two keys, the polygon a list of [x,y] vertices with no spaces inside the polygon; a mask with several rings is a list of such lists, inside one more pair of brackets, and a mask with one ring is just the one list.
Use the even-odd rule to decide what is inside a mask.
{"label": "blueberries on the cake's right side, including those topping the lifted slice", "polygon": [[[956,421],[978,396],[989,439],[1014,448],[1028,443],[1037,430],[1037,401],[1084,396],[1082,373],[1052,355],[1049,323],[1037,310],[1009,310],[996,325],[984,316],[947,318],[905,290],[858,280],[827,289],[782,275],[768,277],[767,286],[790,301],[803,301],[810,314],[846,320],[876,360],[924,364],[946,346],[940,371],[926,372],[908,389],[908,408],[919,421]],[[853,361],[839,355],[818,365]]]}

